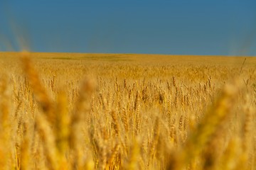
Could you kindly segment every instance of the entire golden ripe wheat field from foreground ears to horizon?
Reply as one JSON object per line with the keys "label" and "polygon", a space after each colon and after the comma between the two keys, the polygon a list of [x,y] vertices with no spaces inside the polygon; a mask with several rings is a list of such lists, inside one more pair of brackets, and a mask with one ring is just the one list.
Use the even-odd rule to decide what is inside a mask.
{"label": "entire golden ripe wheat field from foreground ears to horizon", "polygon": [[0,52],[0,169],[256,169],[256,58]]}

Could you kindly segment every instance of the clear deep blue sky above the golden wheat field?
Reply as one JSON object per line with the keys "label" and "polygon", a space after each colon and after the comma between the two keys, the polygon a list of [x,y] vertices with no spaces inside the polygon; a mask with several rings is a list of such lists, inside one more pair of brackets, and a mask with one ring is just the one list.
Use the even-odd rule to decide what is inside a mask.
{"label": "clear deep blue sky above the golden wheat field", "polygon": [[1,0],[0,50],[24,45],[36,52],[256,56],[256,1]]}

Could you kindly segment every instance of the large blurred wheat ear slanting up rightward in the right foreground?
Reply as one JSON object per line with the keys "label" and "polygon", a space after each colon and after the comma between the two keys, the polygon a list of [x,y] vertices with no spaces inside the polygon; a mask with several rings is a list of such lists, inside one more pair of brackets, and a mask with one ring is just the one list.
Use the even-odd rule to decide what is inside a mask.
{"label": "large blurred wheat ear slanting up rightward in the right foreground", "polygon": [[[174,160],[170,160],[168,169],[182,169],[184,166],[191,164],[193,159],[198,157],[198,154],[201,154],[203,149],[209,145],[210,140],[214,140],[213,135],[218,132],[218,128],[220,128],[220,125],[228,117],[231,108],[234,106],[238,90],[237,86],[225,86],[222,94],[215,101],[215,105],[206,113],[201,123],[198,123],[198,127],[192,132],[183,149],[172,156]],[[206,157],[203,169],[213,168],[210,167],[213,166],[212,164],[208,164],[208,162],[214,161],[210,159],[212,158]]]}

